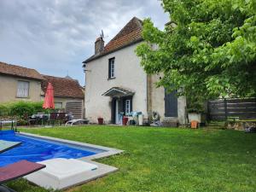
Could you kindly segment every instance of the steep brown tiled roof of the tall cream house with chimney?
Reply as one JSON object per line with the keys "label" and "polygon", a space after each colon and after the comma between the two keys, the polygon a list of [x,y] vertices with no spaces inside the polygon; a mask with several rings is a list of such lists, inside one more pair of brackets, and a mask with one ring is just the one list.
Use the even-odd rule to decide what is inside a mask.
{"label": "steep brown tiled roof of the tall cream house with chimney", "polygon": [[143,40],[143,21],[139,20],[137,17],[133,17],[124,28],[109,41],[109,43],[104,47],[102,53],[98,55],[92,55],[90,58],[85,60],[83,63],[93,61],[103,55],[112,53],[115,50],[122,49],[130,44],[137,43]]}

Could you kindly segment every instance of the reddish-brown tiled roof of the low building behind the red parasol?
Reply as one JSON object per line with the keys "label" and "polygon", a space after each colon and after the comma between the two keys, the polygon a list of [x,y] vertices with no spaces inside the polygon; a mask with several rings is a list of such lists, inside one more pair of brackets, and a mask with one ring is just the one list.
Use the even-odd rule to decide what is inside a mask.
{"label": "reddish-brown tiled roof of the low building behind the red parasol", "polygon": [[49,75],[43,75],[44,81],[41,84],[42,90],[47,89],[47,85],[50,82],[54,87],[55,96],[59,97],[71,97],[84,99],[83,88],[79,82],[75,79],[58,78]]}

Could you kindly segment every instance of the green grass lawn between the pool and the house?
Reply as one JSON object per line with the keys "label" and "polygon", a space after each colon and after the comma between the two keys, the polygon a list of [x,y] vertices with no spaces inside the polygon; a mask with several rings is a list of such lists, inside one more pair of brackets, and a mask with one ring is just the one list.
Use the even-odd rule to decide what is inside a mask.
{"label": "green grass lawn between the pool and the house", "polygon": [[[256,134],[92,125],[20,131],[125,150],[98,160],[119,172],[68,191],[256,191]],[[9,186],[47,191],[24,179]]]}

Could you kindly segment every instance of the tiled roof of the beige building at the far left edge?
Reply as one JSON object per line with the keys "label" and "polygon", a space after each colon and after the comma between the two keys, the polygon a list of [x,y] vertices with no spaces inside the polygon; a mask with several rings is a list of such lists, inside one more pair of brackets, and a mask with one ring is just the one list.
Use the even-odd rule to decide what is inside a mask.
{"label": "tiled roof of the beige building at the far left edge", "polygon": [[0,73],[5,75],[17,76],[26,79],[43,80],[43,76],[35,69],[11,65],[0,61]]}

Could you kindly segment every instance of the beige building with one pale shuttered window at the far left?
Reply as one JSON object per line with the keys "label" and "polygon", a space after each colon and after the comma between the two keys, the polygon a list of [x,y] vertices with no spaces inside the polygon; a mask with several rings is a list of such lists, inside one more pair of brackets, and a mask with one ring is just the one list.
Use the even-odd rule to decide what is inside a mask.
{"label": "beige building with one pale shuttered window at the far left", "polygon": [[35,69],[0,62],[0,102],[40,102],[43,79]]}

